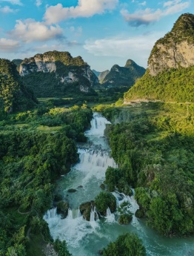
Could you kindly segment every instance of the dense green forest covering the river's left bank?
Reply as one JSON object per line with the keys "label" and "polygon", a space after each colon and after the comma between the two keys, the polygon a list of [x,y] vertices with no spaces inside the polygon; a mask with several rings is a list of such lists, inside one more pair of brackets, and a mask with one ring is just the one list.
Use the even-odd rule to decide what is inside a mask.
{"label": "dense green forest covering the river's left bank", "polygon": [[[52,242],[43,214],[52,208],[55,181],[78,160],[92,111],[87,105],[4,114],[0,119],[0,255],[43,255]],[[53,243],[69,255],[65,242]]]}

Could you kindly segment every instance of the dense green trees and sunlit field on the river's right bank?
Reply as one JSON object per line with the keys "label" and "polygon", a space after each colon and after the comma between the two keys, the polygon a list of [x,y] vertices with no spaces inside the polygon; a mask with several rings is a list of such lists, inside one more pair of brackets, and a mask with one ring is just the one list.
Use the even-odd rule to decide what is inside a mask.
{"label": "dense green trees and sunlit field on the river's right bank", "polygon": [[162,234],[193,234],[194,105],[150,102],[103,114],[120,122],[106,134],[119,174],[136,188],[139,215]]}

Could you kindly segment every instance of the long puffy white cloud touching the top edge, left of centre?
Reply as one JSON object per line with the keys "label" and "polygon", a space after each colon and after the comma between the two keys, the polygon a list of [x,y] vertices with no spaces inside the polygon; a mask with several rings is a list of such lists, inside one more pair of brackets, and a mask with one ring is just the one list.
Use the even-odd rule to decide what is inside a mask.
{"label": "long puffy white cloud touching the top edge, left of centre", "polygon": [[47,24],[56,24],[64,19],[91,17],[107,10],[113,10],[116,4],[118,0],[78,0],[76,7],[63,7],[62,4],[57,4],[47,7],[44,19]]}

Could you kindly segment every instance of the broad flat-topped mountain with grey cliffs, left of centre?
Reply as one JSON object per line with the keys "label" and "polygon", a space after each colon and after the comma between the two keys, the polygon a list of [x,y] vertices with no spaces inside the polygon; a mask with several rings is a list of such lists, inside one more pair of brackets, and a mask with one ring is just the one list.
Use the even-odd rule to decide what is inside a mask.
{"label": "broad flat-topped mountain with grey cliffs, left of centre", "polygon": [[[90,93],[93,91],[93,85],[98,84],[97,76],[90,70],[90,66],[84,62],[81,56],[73,58],[68,52],[58,52],[56,50],[24,59],[19,66],[19,73],[23,76],[27,87],[30,87],[30,82],[33,82],[30,77],[33,78],[37,75],[41,82],[43,77],[44,80],[47,77],[50,80],[52,76],[52,84],[49,82],[48,85],[50,88],[53,87],[50,93],[53,94],[54,88],[57,92],[54,95],[47,93],[45,96],[58,96],[60,93],[65,96],[65,91],[69,87],[75,87],[75,85],[75,92]],[[39,87],[39,85],[37,86]],[[34,87],[33,90],[35,90],[36,96],[44,96],[44,90]]]}

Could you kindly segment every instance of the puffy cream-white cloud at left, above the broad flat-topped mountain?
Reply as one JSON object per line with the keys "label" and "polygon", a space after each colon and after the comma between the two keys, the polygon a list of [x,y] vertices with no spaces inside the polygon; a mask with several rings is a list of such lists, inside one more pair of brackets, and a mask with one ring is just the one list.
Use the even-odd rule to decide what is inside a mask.
{"label": "puffy cream-white cloud at left, above the broad flat-topped mountain", "polygon": [[17,20],[15,29],[10,31],[10,36],[20,39],[22,42],[47,41],[63,37],[61,27],[47,26],[43,22],[36,22],[34,19]]}

